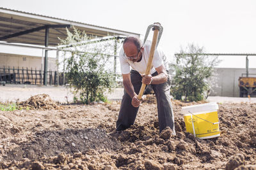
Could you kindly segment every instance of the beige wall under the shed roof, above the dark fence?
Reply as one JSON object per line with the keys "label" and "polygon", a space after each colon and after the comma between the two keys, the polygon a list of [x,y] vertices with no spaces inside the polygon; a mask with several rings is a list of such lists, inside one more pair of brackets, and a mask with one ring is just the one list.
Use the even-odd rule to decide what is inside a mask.
{"label": "beige wall under the shed roof, above the dark fence", "polygon": [[[11,53],[0,53],[0,67],[19,67],[31,69],[41,69],[42,57],[29,56],[29,55],[16,55]],[[48,58],[48,71],[56,71],[56,59]]]}

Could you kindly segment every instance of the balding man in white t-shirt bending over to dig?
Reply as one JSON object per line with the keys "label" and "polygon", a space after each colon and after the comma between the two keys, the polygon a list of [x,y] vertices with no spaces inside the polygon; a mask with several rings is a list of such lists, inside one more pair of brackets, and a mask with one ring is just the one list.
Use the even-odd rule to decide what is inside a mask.
{"label": "balding man in white t-shirt bending over to dig", "polygon": [[[138,99],[141,84],[151,85],[157,99],[157,113],[159,131],[166,127],[172,129],[175,135],[174,117],[170,99],[171,78],[164,67],[164,53],[156,49],[150,74],[145,75],[151,43],[142,45],[139,38],[128,36],[125,38],[119,59],[124,83],[124,96],[116,121],[116,131],[124,131],[134,124],[141,100]],[[131,66],[131,71],[130,71]]]}

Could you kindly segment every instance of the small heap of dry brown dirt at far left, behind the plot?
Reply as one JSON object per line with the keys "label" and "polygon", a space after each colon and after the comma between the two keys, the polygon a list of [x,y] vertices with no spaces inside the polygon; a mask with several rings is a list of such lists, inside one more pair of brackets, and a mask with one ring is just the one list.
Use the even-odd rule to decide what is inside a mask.
{"label": "small heap of dry brown dirt at far left, behind the plot", "polygon": [[60,109],[61,107],[52,101],[48,94],[38,94],[31,96],[27,101],[19,103],[19,108],[51,110]]}

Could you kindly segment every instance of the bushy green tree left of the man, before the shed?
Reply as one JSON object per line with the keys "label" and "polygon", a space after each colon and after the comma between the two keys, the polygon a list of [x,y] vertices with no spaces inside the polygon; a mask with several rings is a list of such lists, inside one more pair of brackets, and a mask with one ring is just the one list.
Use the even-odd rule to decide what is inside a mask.
{"label": "bushy green tree left of the man, before the shed", "polygon": [[113,44],[96,41],[76,28],[72,32],[67,29],[67,38],[60,41],[68,86],[77,96],[74,100],[86,104],[106,101],[105,92],[117,84],[113,65],[109,64],[113,55],[108,55]]}

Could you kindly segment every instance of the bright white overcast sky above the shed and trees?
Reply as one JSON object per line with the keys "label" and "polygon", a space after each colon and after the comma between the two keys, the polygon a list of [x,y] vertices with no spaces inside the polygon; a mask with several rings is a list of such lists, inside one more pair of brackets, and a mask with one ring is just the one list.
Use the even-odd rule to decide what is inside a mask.
{"label": "bright white overcast sky above the shed and trees", "polygon": [[[136,32],[141,38],[148,25],[159,22],[159,46],[170,60],[192,43],[206,53],[256,53],[255,0],[0,0],[0,6]],[[256,56],[248,58],[255,68]],[[245,67],[244,56],[220,59],[219,67]]]}

